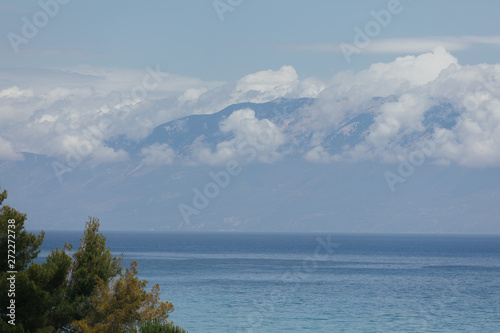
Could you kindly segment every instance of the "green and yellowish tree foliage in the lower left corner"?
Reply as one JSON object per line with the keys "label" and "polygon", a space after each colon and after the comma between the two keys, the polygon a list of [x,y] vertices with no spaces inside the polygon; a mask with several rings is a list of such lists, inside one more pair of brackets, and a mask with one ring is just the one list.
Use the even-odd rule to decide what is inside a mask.
{"label": "green and yellowish tree foliage in the lower left corner", "polygon": [[[0,205],[6,198],[7,192],[0,192]],[[174,307],[160,301],[159,285],[151,292],[144,289],[147,281],[137,278],[137,262],[121,273],[122,258],[106,247],[97,218],[89,217],[73,257],[68,254],[72,245],[65,244],[63,250],[52,250],[42,264],[33,260],[44,232],[27,232],[26,215],[9,206],[0,208],[0,255],[7,258],[10,219],[15,219],[16,235],[16,326],[6,323],[10,299],[3,296],[9,289],[7,271],[13,269],[1,260],[0,333],[136,332],[143,323],[168,329],[159,332],[186,333],[167,321]]]}

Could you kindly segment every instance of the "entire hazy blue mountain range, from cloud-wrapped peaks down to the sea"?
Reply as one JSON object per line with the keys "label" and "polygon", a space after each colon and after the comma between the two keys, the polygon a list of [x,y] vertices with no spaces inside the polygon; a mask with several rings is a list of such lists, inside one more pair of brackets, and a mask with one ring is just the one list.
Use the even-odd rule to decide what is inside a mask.
{"label": "entire hazy blue mountain range, from cloud-wrapped peaks down to the sea", "polygon": [[[362,142],[379,108],[395,100],[375,98],[337,126],[322,124],[320,144],[335,154]],[[127,151],[128,161],[96,166],[84,160],[61,181],[53,165],[64,161],[24,154],[24,161],[0,163],[0,184],[9,190],[6,204],[27,212],[32,229],[82,229],[93,215],[101,218],[103,229],[121,230],[500,232],[498,168],[439,166],[429,160],[392,192],[384,174],[398,174],[397,164],[304,160],[304,152],[318,140],[318,133],[304,126],[314,103],[304,98],[236,104],[162,124],[138,142],[113,138],[107,144]],[[227,182],[214,180],[226,172],[224,165],[142,162],[141,150],[155,144],[168,144],[181,157],[188,157],[200,140],[214,149],[233,136],[220,130],[221,122],[246,108],[284,133],[283,159],[241,165]],[[421,130],[395,140],[409,147],[436,126],[453,127],[458,116],[452,105],[435,106],[425,112]],[[203,201],[200,195],[207,188],[212,194]],[[181,205],[193,208],[187,222]]]}

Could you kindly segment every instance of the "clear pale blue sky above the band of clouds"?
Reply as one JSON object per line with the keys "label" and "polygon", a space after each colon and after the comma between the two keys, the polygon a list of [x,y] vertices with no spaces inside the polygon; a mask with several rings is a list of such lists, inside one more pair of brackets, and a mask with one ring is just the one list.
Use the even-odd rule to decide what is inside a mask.
{"label": "clear pale blue sky above the band of clouds", "polygon": [[[391,1],[233,0],[234,6],[221,2],[231,8],[223,13],[223,21],[211,0],[68,1],[15,54],[7,34],[22,35],[22,18],[32,21],[41,7],[37,1],[3,0],[0,66],[143,69],[160,64],[166,72],[203,80],[238,80],[290,65],[300,77],[326,78],[413,51],[391,51],[385,44],[382,50],[354,55],[351,63],[339,52],[340,43],[353,43],[355,27],[364,29],[373,21],[371,12],[387,9]],[[460,45],[449,51],[461,64],[496,62],[500,40],[492,37],[500,35],[500,2],[401,0],[397,8],[400,12],[373,41],[408,39],[411,46],[416,38],[458,39]],[[469,43],[464,36],[488,37],[491,43]],[[426,45],[421,52],[430,51]]]}

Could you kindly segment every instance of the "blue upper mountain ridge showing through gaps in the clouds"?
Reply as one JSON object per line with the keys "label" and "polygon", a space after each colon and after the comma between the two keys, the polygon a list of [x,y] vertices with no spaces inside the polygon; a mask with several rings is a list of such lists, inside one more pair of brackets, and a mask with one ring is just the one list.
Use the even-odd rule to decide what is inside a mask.
{"label": "blue upper mountain ridge showing through gaps in the clouds", "polygon": [[[345,119],[340,126],[323,130],[321,145],[327,152],[336,154],[361,143],[369,135],[380,106],[395,101],[395,96],[373,98],[372,103],[363,112],[357,112],[351,118]],[[309,116],[308,107],[314,102],[312,98],[281,98],[267,103],[234,104],[213,114],[191,115],[161,124],[139,142],[118,137],[107,141],[106,144],[114,149],[123,149],[136,158],[140,158],[138,154],[142,148],[153,144],[168,144],[179,156],[186,157],[197,140],[212,149],[217,143],[230,140],[233,135],[221,132],[220,123],[234,111],[252,109],[257,119],[268,119],[284,132],[287,137],[285,148],[292,148],[291,151],[295,153],[304,153],[311,148],[314,130],[303,123]],[[425,129],[397,138],[399,144],[402,147],[412,146],[428,137],[436,127],[450,129],[456,124],[459,115],[459,111],[451,104],[434,106],[424,114]]]}

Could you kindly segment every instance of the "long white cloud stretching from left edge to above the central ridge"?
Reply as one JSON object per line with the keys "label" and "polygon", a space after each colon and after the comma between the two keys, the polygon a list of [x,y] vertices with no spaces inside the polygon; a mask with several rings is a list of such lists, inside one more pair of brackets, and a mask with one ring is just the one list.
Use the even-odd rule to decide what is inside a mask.
{"label": "long white cloud stretching from left edge to above the central ridge", "polygon": [[[140,140],[162,123],[217,112],[233,103],[314,97],[323,88],[317,79],[300,82],[290,66],[250,74],[237,82],[206,82],[165,73],[155,66],[144,70],[3,69],[0,131],[5,140],[16,142],[16,152],[65,158],[66,138],[84,138],[103,122],[110,124],[93,138],[99,141],[96,147],[104,147],[105,140],[118,135]],[[106,151],[95,149],[86,158]],[[103,156],[96,158],[103,160]]]}

